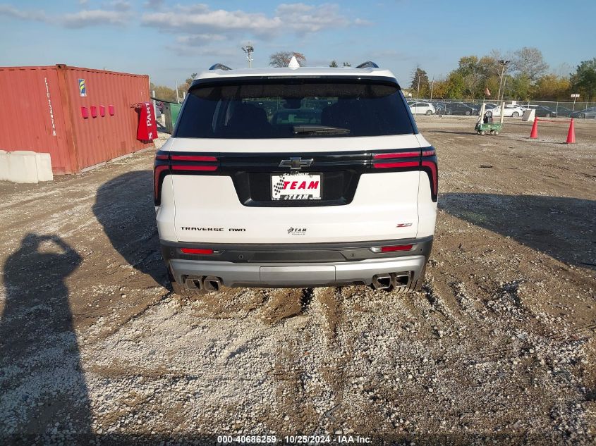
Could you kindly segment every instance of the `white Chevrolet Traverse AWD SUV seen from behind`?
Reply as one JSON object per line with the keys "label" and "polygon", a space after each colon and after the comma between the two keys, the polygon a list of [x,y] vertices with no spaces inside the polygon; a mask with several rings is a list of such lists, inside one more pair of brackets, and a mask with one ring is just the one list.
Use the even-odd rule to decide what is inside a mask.
{"label": "white Chevrolet Traverse AWD SUV seen from behind", "polygon": [[437,156],[375,63],[217,64],[157,152],[154,198],[177,293],[412,289],[432,247]]}

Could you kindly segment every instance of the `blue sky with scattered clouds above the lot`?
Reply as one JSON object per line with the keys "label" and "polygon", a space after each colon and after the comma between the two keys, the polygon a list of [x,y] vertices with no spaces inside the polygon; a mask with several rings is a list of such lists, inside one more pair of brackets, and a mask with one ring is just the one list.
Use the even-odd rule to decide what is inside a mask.
{"label": "blue sky with scattered clouds above the lot", "polygon": [[174,87],[213,63],[246,67],[252,44],[253,67],[276,51],[308,66],[372,60],[408,87],[416,66],[441,78],[492,49],[536,47],[557,74],[596,57],[593,0],[286,1],[0,0],[0,65],[66,63]]}

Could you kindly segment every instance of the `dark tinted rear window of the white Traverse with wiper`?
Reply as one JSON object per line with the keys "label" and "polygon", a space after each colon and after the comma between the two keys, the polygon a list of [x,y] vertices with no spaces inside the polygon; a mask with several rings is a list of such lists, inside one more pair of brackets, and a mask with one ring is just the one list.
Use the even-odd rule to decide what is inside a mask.
{"label": "dark tinted rear window of the white Traverse with wiper", "polygon": [[175,136],[351,137],[414,132],[396,86],[292,81],[195,87],[186,98]]}

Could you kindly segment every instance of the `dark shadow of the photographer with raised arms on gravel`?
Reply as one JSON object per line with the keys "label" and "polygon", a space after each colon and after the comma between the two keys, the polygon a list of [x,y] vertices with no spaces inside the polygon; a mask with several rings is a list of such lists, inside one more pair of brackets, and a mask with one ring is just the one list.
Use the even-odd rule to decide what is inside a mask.
{"label": "dark shadow of the photographer with raised arms on gravel", "polygon": [[0,317],[0,439],[90,437],[91,409],[65,280],[81,257],[54,235],[26,235],[6,259]]}

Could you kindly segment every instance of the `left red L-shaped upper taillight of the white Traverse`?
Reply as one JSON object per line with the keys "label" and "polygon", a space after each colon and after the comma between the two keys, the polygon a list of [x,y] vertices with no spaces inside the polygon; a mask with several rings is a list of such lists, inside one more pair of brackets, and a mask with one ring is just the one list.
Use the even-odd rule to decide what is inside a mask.
{"label": "left red L-shaped upper taillight of the white Traverse", "polygon": [[162,184],[166,175],[173,173],[208,173],[217,171],[219,161],[217,156],[212,155],[190,155],[157,152],[153,170],[153,194],[155,206],[159,206],[162,197]]}

